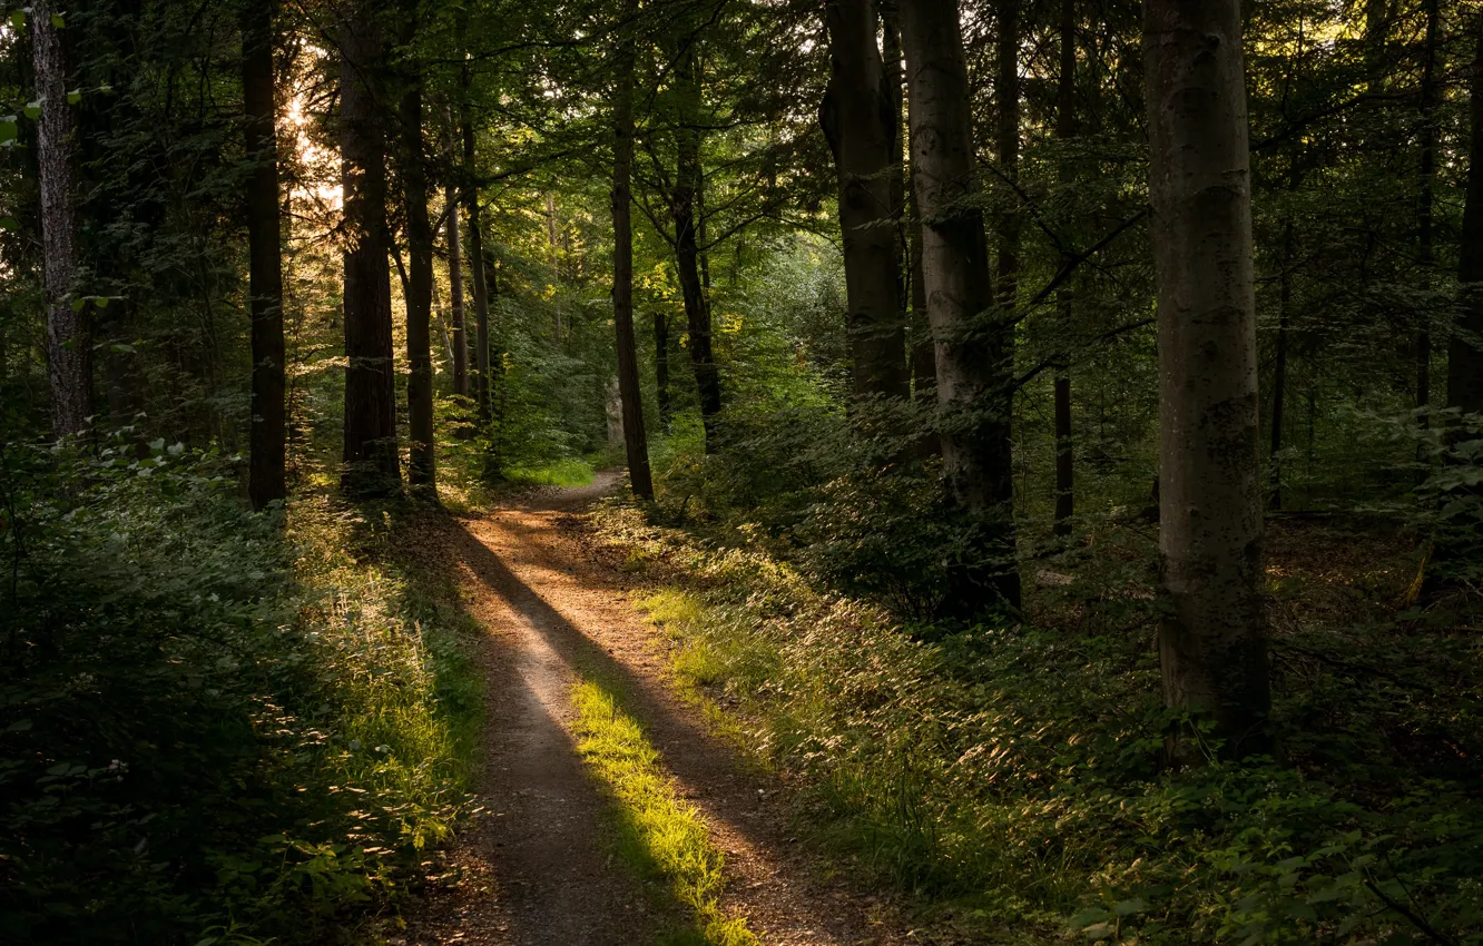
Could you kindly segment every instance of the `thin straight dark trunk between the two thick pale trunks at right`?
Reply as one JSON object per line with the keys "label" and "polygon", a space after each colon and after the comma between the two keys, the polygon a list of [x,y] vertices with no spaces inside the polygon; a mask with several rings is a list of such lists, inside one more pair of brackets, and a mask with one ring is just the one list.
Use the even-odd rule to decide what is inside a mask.
{"label": "thin straight dark trunk between the two thick pale trunks at right", "polygon": [[[1060,87],[1056,90],[1056,138],[1060,145],[1077,135],[1077,0],[1060,0]],[[1060,157],[1060,184],[1069,187],[1075,181],[1071,157]],[[1063,270],[1074,265],[1071,251],[1060,255]],[[1075,492],[1075,448],[1071,430],[1071,331],[1075,325],[1075,307],[1071,286],[1056,292],[1056,320],[1060,323],[1062,353],[1056,363],[1054,415],[1056,415],[1056,535],[1071,535],[1071,516],[1077,512]]]}

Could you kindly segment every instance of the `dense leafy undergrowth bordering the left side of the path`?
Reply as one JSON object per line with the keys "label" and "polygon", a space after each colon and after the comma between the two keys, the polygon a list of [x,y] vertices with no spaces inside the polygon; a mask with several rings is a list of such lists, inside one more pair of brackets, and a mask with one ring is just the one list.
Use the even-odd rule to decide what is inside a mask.
{"label": "dense leafy undergrowth bordering the left side of the path", "polygon": [[[323,495],[6,443],[0,940],[351,943],[466,804],[476,679]],[[280,528],[286,516],[286,529]]]}

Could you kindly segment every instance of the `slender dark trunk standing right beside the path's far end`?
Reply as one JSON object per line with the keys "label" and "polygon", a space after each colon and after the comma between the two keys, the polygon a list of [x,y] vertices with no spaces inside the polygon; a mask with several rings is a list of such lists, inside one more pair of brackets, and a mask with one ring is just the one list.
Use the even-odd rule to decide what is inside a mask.
{"label": "slender dark trunk standing right beside the path's far end", "polygon": [[[638,0],[627,0],[624,19],[638,15]],[[639,387],[639,354],[633,341],[633,196],[629,190],[633,166],[633,43],[623,39],[617,89],[612,96],[612,326],[618,348],[618,397],[623,402],[623,445],[629,455],[629,485],[641,500],[654,498],[644,433],[644,391]]]}

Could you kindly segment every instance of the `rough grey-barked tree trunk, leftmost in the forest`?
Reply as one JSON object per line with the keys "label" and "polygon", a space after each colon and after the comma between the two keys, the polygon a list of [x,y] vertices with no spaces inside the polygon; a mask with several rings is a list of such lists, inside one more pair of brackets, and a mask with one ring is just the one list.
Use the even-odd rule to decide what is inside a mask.
{"label": "rough grey-barked tree trunk, leftmost in the forest", "polygon": [[68,61],[55,0],[37,0],[27,21],[36,95],[42,102],[37,163],[42,182],[42,259],[46,289],[46,359],[52,433],[87,430],[92,415],[92,304],[77,298],[76,122],[67,101]]}

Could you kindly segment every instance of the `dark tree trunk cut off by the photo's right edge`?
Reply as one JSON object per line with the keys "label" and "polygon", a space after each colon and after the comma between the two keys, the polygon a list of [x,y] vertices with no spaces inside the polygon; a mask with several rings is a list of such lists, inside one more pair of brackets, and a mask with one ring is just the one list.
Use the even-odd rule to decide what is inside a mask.
{"label": "dark tree trunk cut off by the photo's right edge", "polygon": [[1447,345],[1447,406],[1483,414],[1483,13],[1479,13],[1473,58],[1473,141],[1468,150],[1468,191],[1462,208],[1458,282],[1462,319]]}

